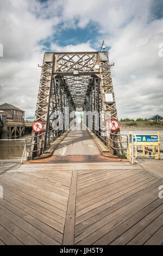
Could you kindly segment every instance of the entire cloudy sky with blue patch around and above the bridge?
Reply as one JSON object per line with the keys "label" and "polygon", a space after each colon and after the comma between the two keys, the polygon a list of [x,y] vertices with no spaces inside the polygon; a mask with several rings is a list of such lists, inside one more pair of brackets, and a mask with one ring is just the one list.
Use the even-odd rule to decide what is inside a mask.
{"label": "entire cloudy sky with blue patch around and above the bridge", "polygon": [[163,115],[163,0],[1,0],[0,104],[33,116],[43,53],[99,51],[103,39],[118,118]]}

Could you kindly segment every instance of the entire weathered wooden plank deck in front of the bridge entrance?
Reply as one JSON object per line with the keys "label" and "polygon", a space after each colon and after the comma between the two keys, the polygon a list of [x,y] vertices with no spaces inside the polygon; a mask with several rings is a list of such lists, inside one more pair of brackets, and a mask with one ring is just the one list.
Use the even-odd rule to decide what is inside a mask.
{"label": "entire weathered wooden plank deck in front of the bridge entrance", "polygon": [[139,164],[24,164],[0,185],[0,245],[163,244],[163,181]]}

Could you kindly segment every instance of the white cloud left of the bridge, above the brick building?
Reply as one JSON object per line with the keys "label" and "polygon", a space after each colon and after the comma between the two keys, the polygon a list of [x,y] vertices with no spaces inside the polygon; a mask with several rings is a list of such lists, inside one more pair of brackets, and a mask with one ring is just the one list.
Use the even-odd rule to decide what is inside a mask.
{"label": "white cloud left of the bridge, above the brick building", "polygon": [[[11,103],[34,115],[39,87],[43,45],[39,42],[53,34],[53,23],[36,17],[29,11],[35,1],[4,1],[0,9],[1,104]],[[45,47],[44,47],[45,48]]]}

